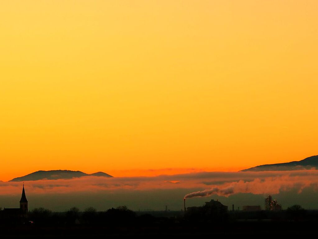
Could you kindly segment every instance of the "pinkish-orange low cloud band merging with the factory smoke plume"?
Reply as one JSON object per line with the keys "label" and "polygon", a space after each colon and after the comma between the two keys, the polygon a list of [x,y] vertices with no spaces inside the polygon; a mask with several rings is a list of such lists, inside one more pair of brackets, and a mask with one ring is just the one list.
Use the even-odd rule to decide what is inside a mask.
{"label": "pinkish-orange low cloud band merging with the factory smoke plume", "polygon": [[[193,189],[185,198],[211,194],[229,196],[236,193],[277,194],[318,185],[318,170],[267,172],[201,172],[156,177],[81,177],[74,179],[37,180],[25,182],[28,194],[100,192],[116,190]],[[22,182],[0,182],[0,195],[19,193]]]}

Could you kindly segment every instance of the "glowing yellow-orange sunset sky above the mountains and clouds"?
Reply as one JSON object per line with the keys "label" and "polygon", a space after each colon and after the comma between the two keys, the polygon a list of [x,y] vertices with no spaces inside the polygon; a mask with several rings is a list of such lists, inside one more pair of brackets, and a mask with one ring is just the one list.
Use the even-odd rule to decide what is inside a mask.
{"label": "glowing yellow-orange sunset sky above the mountains and clouds", "polygon": [[2,1],[0,179],[318,154],[317,16],[316,0]]}

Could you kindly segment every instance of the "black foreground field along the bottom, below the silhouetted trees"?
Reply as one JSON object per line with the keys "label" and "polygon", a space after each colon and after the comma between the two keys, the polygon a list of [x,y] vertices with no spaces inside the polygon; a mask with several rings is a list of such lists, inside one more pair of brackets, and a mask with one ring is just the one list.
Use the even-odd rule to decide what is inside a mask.
{"label": "black foreground field along the bottom, below the silhouetted trees", "polygon": [[224,225],[155,224],[132,226],[34,226],[1,227],[1,238],[139,238],[206,237],[221,235],[286,236],[315,235],[314,224],[296,222],[244,221]]}

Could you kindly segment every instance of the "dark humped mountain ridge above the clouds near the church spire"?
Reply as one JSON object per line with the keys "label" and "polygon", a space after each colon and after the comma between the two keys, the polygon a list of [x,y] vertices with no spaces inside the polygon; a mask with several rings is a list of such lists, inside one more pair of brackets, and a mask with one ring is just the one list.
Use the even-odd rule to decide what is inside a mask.
{"label": "dark humped mountain ridge above the clouds near the church spire", "polygon": [[81,171],[71,171],[71,170],[50,170],[50,171],[37,171],[27,174],[23,177],[18,177],[11,179],[9,182],[21,182],[21,181],[35,181],[41,179],[72,179],[79,178],[83,176],[98,176],[98,177],[109,177],[113,176],[104,172],[95,172],[92,174],[87,174]]}

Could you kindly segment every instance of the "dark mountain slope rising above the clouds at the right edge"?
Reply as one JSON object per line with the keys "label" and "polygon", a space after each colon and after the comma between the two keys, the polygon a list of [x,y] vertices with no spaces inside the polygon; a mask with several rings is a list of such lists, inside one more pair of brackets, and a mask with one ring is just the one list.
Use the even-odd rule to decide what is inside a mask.
{"label": "dark mountain slope rising above the clouds at the right edge", "polygon": [[241,170],[247,171],[288,171],[288,170],[305,170],[305,169],[318,169],[318,155],[305,158],[301,161],[292,161],[289,163],[280,164],[266,164],[256,167]]}

